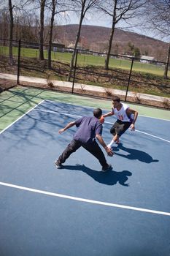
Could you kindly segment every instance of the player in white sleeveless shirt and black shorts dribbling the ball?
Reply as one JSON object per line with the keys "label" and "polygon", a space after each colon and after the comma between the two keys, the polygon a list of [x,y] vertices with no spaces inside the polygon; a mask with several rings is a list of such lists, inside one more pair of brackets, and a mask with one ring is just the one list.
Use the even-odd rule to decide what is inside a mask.
{"label": "player in white sleeveless shirt and black shorts dribbling the ball", "polygon": [[120,102],[120,98],[115,96],[112,99],[112,111],[103,115],[104,118],[107,116],[115,115],[117,117],[117,121],[113,124],[110,129],[110,133],[112,133],[113,138],[111,142],[107,145],[109,148],[112,148],[113,143],[120,143],[120,136],[130,127],[131,131],[135,130],[135,122],[138,116],[138,112],[128,107],[125,103]]}

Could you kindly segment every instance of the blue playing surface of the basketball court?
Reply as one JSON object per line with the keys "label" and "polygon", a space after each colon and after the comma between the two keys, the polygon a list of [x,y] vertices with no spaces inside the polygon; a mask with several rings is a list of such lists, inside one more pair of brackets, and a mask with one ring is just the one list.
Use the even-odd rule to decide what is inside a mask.
{"label": "blue playing surface of the basketball court", "polygon": [[79,116],[93,108],[44,101],[1,132],[0,255],[170,255],[170,121],[139,116],[112,171],[84,148],[57,170],[76,127],[58,129]]}

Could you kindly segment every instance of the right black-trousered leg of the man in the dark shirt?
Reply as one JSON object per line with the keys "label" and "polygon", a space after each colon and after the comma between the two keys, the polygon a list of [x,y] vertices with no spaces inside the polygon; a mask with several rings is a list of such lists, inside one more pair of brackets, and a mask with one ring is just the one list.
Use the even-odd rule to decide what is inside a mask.
{"label": "right black-trousered leg of the man in the dark shirt", "polygon": [[101,148],[98,146],[98,143],[96,143],[96,141],[88,145],[82,144],[82,147],[85,148],[88,152],[90,152],[90,154],[93,154],[93,156],[98,159],[102,168],[108,167],[107,160],[104,157],[104,153],[101,150]]}

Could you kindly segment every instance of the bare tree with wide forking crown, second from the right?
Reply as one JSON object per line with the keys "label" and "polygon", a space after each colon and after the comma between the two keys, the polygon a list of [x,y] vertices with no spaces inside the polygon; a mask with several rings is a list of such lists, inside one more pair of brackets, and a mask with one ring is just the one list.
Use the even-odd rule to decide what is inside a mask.
{"label": "bare tree with wide forking crown, second from the right", "polygon": [[109,35],[109,46],[107,57],[105,59],[105,69],[109,69],[109,58],[112,49],[112,39],[115,33],[115,27],[120,20],[127,21],[141,15],[141,8],[144,6],[144,0],[106,0],[98,6],[105,15],[112,18],[112,28]]}

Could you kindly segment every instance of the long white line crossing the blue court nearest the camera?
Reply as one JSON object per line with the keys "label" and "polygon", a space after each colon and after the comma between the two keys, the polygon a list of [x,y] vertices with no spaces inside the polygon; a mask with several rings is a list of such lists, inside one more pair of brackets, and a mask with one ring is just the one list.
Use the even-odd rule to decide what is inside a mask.
{"label": "long white line crossing the blue court nearest the camera", "polygon": [[120,204],[117,204],[117,203],[106,203],[106,202],[102,202],[102,201],[89,200],[89,199],[85,199],[85,198],[81,198],[81,197],[72,197],[70,195],[62,195],[62,194],[47,192],[47,191],[39,190],[39,189],[31,189],[29,187],[21,187],[21,186],[17,186],[17,185],[14,185],[14,184],[9,184],[9,183],[4,183],[4,182],[0,182],[0,185],[5,186],[5,187],[12,187],[12,188],[15,188],[15,189],[22,189],[22,190],[26,190],[26,191],[29,191],[29,192],[35,192],[35,193],[39,193],[39,194],[43,194],[43,195],[50,195],[50,196],[53,196],[53,197],[62,197],[62,198],[66,198],[66,199],[70,199],[70,200],[76,200],[76,201],[85,202],[85,203],[93,203],[93,204],[97,204],[97,205],[101,205],[101,206],[124,208],[124,209],[128,209],[128,210],[133,210],[133,211],[144,211],[144,212],[147,212],[147,213],[150,213],[150,214],[161,214],[161,215],[170,216],[170,213],[166,212],[166,211],[153,211],[153,210],[146,209],[146,208],[123,206],[123,205],[120,205]]}

